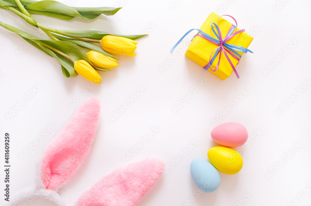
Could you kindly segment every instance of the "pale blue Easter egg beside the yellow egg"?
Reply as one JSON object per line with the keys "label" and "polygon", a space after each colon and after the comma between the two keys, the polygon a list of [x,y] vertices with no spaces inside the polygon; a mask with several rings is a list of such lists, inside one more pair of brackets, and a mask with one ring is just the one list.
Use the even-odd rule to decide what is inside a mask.
{"label": "pale blue Easter egg beside the yellow egg", "polygon": [[214,192],[220,185],[218,171],[206,160],[194,159],[190,164],[190,173],[194,184],[203,192]]}

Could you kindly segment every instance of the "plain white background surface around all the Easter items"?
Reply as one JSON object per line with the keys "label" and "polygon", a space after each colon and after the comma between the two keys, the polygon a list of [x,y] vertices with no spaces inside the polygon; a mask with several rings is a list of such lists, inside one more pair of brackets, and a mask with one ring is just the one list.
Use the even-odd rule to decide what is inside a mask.
{"label": "plain white background surface around all the Easter items", "polygon": [[[76,18],[66,22],[35,16],[37,20],[59,29],[149,33],[150,36],[137,40],[136,57],[119,56],[119,66],[112,72],[101,72],[101,85],[92,87],[81,76],[64,78],[55,59],[33,46],[27,46],[20,36],[0,28],[1,156],[4,156],[4,133],[8,132],[11,136],[11,194],[34,185],[35,162],[41,157],[44,147],[71,118],[75,108],[72,109],[70,104],[87,90],[89,94],[82,101],[93,96],[99,98],[101,117],[85,163],[76,176],[59,190],[69,204],[74,205],[78,197],[102,176],[126,164],[123,157],[156,127],[159,129],[156,134],[143,143],[129,162],[149,156],[161,157],[168,164],[178,156],[181,161],[159,180],[140,206],[189,205],[186,202],[192,196],[195,201],[191,205],[195,206],[234,205],[237,202],[252,206],[289,205],[295,199],[298,205],[310,205],[311,192],[306,189],[311,183],[311,87],[301,88],[305,81],[311,79],[310,1],[282,0],[280,3],[283,4],[277,11],[273,9],[278,4],[277,0],[176,0],[175,4],[173,0],[59,1],[75,7],[122,6],[123,9],[114,16],[101,15],[91,21]],[[169,52],[185,32],[199,28],[211,12],[234,16],[238,27],[254,37],[249,46],[254,54],[244,54],[237,66],[240,79],[233,73],[222,81],[186,58],[184,52],[191,35],[173,54]],[[38,34],[38,30],[11,13],[0,11],[0,20]],[[47,38],[43,34],[40,37]],[[298,43],[290,46],[295,40]],[[290,51],[284,56],[283,49],[287,47]],[[169,58],[174,54],[177,57],[170,62]],[[267,64],[272,64],[278,56],[281,60],[264,74]],[[169,66],[161,72],[164,62]],[[202,77],[208,81],[194,93],[192,88],[201,82]],[[41,86],[39,91],[26,100],[24,96],[36,84]],[[134,95],[139,87],[145,91],[130,103],[128,97]],[[300,88],[305,90],[298,96]],[[240,98],[242,91],[248,94]],[[175,112],[173,107],[188,93],[192,97]],[[286,105],[286,100],[292,96],[295,101]],[[234,99],[239,99],[239,103],[234,104]],[[26,101],[25,105],[7,118],[6,114],[21,100]],[[128,108],[111,122],[109,117],[125,103]],[[287,108],[278,114],[277,110],[284,104]],[[221,115],[228,106],[231,110]],[[219,124],[234,121],[247,128],[249,142],[241,153],[244,166],[235,175],[220,172],[219,189],[197,196],[189,166],[194,158],[207,160],[207,151],[217,146],[210,136],[217,124],[213,123],[217,115],[223,117]],[[52,132],[39,141],[25,158],[21,158],[24,149],[38,140],[49,124],[55,125]],[[250,140],[256,131],[261,134]],[[183,156],[180,152],[193,140],[198,144]],[[295,144],[301,145],[297,151],[292,150]],[[292,152],[290,158],[285,157],[287,152]],[[1,157],[4,163],[3,159]],[[285,163],[280,168],[274,167],[281,160]],[[273,173],[271,169],[274,174],[267,177],[267,173]],[[4,175],[1,171],[0,174]],[[3,203],[2,178],[0,194]],[[306,195],[298,196],[304,190]],[[251,196],[246,202],[242,201],[245,194]],[[42,202],[38,200],[31,205],[39,203]]]}

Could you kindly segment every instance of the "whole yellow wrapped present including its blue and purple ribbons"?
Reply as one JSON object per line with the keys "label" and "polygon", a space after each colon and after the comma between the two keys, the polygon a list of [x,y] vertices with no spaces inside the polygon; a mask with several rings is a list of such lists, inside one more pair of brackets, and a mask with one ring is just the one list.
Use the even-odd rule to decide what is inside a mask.
{"label": "whole yellow wrapped present including its blue and purple ribbons", "polygon": [[[232,16],[229,17],[235,21]],[[237,25],[236,21],[235,24]],[[239,63],[243,53],[253,53],[247,49],[253,37],[246,34],[244,29],[238,29],[236,25],[212,12],[200,29],[189,30],[175,44],[171,52],[186,35],[197,30],[198,33],[193,37],[185,56],[222,80],[228,78],[233,71],[239,78],[235,66]]]}

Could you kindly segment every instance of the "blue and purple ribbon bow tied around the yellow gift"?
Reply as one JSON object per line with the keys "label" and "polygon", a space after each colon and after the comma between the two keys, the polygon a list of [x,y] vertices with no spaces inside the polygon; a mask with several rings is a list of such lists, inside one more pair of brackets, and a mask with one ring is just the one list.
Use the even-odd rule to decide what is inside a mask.
{"label": "blue and purple ribbon bow tied around the yellow gift", "polygon": [[[219,45],[219,47],[218,47],[217,49],[214,49],[214,50],[212,51],[211,56],[210,56],[210,59],[209,59],[209,62],[208,62],[207,65],[205,65],[203,68],[205,68],[206,70],[207,70],[208,68],[210,68],[211,71],[215,72],[215,71],[218,69],[218,67],[219,67],[220,58],[221,58],[221,52],[222,52],[222,53],[224,53],[225,57],[226,57],[227,60],[229,61],[229,63],[230,63],[230,65],[231,65],[231,67],[232,67],[232,69],[233,69],[235,75],[236,75],[238,78],[240,78],[238,72],[235,70],[235,67],[233,66],[233,63],[232,63],[231,60],[229,59],[227,52],[228,52],[231,56],[233,56],[234,59],[236,59],[236,60],[238,60],[238,61],[240,61],[240,59],[241,59],[242,56],[241,56],[239,53],[237,53],[236,51],[240,51],[240,52],[243,52],[243,53],[247,53],[247,52],[253,53],[253,52],[252,52],[251,50],[247,49],[247,48],[242,47],[242,46],[237,46],[237,45],[225,43],[227,40],[231,39],[233,36],[235,36],[235,35],[237,35],[237,34],[243,32],[243,31],[245,31],[245,29],[236,31],[237,26],[238,26],[238,23],[236,22],[236,20],[235,20],[232,16],[230,16],[230,15],[222,15],[222,16],[229,16],[229,17],[231,17],[231,18],[235,21],[235,25],[236,25],[236,26],[234,26],[234,25],[232,24],[232,26],[230,27],[230,29],[229,29],[229,31],[228,31],[228,33],[227,33],[227,35],[226,35],[226,37],[225,37],[224,39],[222,38],[221,31],[220,31],[219,26],[218,26],[218,22],[219,22],[219,19],[220,19],[220,17],[221,17],[221,16],[220,16],[219,19],[218,19],[218,21],[217,21],[217,25],[216,25],[215,23],[211,23],[212,30],[213,30],[214,34],[216,35],[216,37],[218,38],[218,40],[215,39],[214,37],[212,37],[212,36],[206,34],[205,32],[199,30],[199,29],[190,29],[190,30],[189,30],[185,35],[183,35],[183,37],[174,45],[174,47],[171,49],[171,52],[176,48],[176,46],[177,46],[191,31],[197,30],[197,31],[199,31],[199,32],[198,32],[196,35],[194,35],[193,38],[194,38],[195,36],[200,36],[200,37],[202,37],[202,38],[204,38],[204,39],[206,39],[206,40],[208,40],[208,41],[210,41],[210,42],[212,42],[212,43],[214,43],[214,44]],[[216,31],[215,31],[215,29],[214,29],[214,26],[216,27],[216,30],[218,31],[218,34],[216,33]],[[236,32],[235,32],[235,31],[236,31]],[[192,38],[192,39],[193,39],[193,38]],[[220,52],[220,50],[221,50],[221,52]],[[215,52],[214,56],[212,57],[214,51],[216,51],[216,52]],[[219,54],[219,53],[220,53],[220,54]],[[216,56],[217,56],[218,54],[219,54],[218,63],[217,63],[217,65],[216,65],[215,70],[213,70],[213,69],[211,68],[211,65],[212,65],[212,63],[214,62],[214,60],[216,59]]]}

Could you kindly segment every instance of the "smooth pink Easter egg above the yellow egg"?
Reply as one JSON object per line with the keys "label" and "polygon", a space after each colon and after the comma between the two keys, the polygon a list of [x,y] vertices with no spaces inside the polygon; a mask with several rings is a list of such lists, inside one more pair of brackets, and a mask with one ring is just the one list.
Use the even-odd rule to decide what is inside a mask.
{"label": "smooth pink Easter egg above the yellow egg", "polygon": [[237,122],[219,124],[211,131],[213,140],[225,147],[240,147],[248,138],[246,128]]}

